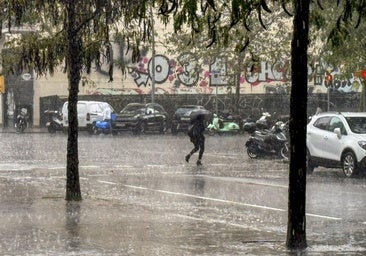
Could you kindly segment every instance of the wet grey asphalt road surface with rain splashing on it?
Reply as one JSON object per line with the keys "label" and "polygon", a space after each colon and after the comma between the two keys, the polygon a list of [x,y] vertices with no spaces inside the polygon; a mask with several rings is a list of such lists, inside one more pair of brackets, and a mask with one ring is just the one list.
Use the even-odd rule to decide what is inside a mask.
{"label": "wet grey asphalt road surface with rain splashing on it", "polygon": [[[83,201],[65,202],[66,135],[1,133],[0,254],[289,255],[288,163],[249,159],[248,135],[80,133]],[[302,255],[366,253],[366,179],[316,169]],[[12,253],[13,252],[13,253]]]}

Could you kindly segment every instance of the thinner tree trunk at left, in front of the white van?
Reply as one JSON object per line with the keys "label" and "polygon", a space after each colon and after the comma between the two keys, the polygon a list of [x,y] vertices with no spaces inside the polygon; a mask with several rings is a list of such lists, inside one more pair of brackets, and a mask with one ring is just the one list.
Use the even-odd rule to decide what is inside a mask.
{"label": "thinner tree trunk at left, in front of the white van", "polygon": [[79,180],[79,156],[78,156],[78,118],[77,101],[79,82],[82,70],[82,40],[76,29],[76,2],[69,1],[68,27],[67,27],[67,69],[69,79],[68,118],[69,130],[67,139],[67,163],[66,163],[66,200],[80,201],[81,190]]}

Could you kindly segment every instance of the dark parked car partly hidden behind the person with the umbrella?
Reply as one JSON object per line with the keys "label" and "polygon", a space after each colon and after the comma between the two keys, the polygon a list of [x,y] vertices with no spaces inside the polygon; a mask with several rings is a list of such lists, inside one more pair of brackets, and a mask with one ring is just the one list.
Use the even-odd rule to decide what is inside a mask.
{"label": "dark parked car partly hidden behind the person with the umbrella", "polygon": [[206,110],[200,105],[183,105],[175,110],[171,123],[172,134],[187,132],[191,122],[191,114],[196,110]]}

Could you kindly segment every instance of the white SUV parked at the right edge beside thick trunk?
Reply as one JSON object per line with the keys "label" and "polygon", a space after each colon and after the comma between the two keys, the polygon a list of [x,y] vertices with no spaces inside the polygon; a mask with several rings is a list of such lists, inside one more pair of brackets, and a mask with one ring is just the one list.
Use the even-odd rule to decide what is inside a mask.
{"label": "white SUV parked at the right edge beside thick trunk", "polygon": [[307,125],[307,172],[317,166],[352,177],[366,167],[366,113],[324,112]]}

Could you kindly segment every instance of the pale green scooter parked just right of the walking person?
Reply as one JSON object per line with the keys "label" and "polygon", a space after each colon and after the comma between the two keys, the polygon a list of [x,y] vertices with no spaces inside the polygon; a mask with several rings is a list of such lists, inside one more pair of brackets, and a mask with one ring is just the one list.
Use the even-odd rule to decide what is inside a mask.
{"label": "pale green scooter parked just right of the walking person", "polygon": [[242,130],[237,122],[233,118],[228,116],[227,118],[220,118],[217,114],[213,115],[212,122],[207,126],[208,134],[214,135],[215,133],[240,133]]}

